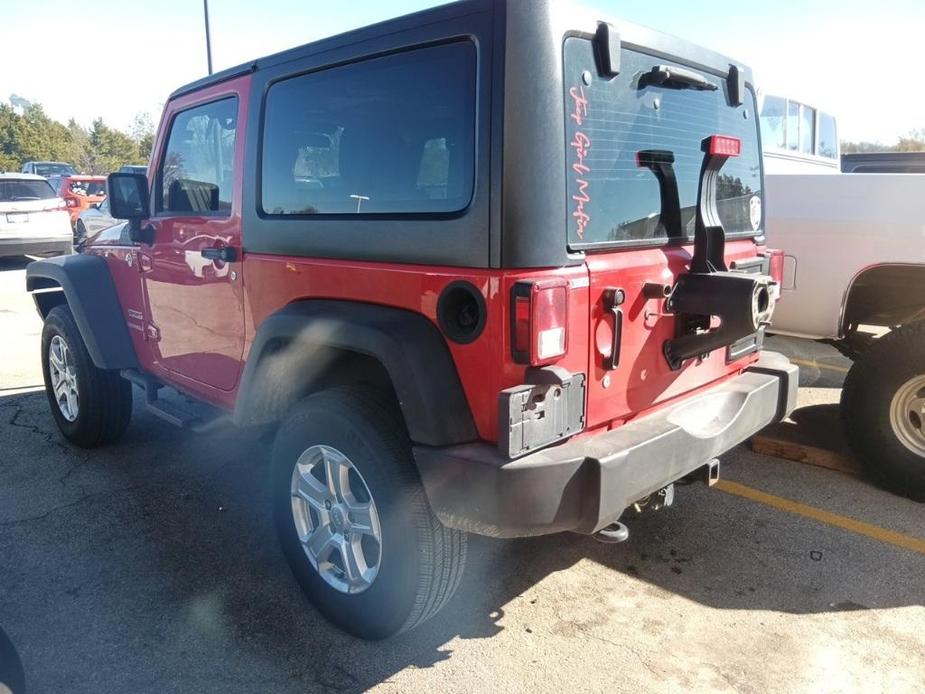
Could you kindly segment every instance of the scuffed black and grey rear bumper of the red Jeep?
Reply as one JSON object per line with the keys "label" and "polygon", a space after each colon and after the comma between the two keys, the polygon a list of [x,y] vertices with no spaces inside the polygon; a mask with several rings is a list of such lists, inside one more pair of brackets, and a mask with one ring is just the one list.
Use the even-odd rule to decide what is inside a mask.
{"label": "scuffed black and grey rear bumper of the red Jeep", "polygon": [[491,537],[594,533],[635,501],[703,467],[796,404],[799,372],[765,352],[744,373],[619,429],[509,460],[473,443],[416,446],[444,525]]}

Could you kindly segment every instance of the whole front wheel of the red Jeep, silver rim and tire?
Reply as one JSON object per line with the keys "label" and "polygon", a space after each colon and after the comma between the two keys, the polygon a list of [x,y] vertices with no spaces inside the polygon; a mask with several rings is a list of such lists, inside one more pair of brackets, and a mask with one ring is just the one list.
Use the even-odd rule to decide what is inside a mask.
{"label": "whole front wheel of the red Jeep, silver rim and tire", "polygon": [[68,306],[55,306],[42,329],[45,394],[58,429],[83,448],[117,441],[132,417],[132,385],[99,369]]}

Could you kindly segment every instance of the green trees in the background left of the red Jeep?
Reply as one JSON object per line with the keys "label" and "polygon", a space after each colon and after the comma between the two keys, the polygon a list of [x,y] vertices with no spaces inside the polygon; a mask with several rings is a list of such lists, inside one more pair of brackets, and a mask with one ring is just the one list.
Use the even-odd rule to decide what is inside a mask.
{"label": "green trees in the background left of the red Jeep", "polygon": [[40,104],[22,113],[0,103],[0,171],[20,171],[27,161],[63,161],[81,173],[108,174],[123,164],[144,164],[154,143],[147,114],[135,117],[131,134],[110,128],[101,118],[89,130],[73,118],[63,125]]}

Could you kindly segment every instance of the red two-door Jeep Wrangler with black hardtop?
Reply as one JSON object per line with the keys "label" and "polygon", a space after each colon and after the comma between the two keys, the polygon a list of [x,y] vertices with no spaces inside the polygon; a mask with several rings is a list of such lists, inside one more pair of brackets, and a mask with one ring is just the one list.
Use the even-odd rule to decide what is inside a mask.
{"label": "red two-door Jeep Wrangler with black hardtop", "polygon": [[466,533],[625,539],[794,405],[750,79],[466,0],[183,87],[150,180],[109,177],[129,221],[29,266],[52,414],[110,443],[134,384],[275,424],[282,547],[364,637],[446,603]]}

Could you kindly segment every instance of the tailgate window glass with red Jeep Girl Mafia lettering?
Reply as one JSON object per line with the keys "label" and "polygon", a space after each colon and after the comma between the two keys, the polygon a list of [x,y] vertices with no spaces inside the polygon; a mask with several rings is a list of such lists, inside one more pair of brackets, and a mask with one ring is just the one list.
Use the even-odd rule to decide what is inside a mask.
{"label": "tailgate window glass with red Jeep Girl Mafia lettering", "polygon": [[[706,75],[716,90],[656,86],[642,78],[656,65],[673,65],[624,50],[620,74],[598,75],[593,44],[570,38],[565,51],[568,238],[572,247],[654,242],[668,238],[660,220],[661,192],[652,169],[637,165],[643,150],[669,152],[678,183],[682,234],[693,236],[704,154],[702,141],[729,135],[741,155],[720,172],[718,211],[729,234],[754,234],[761,223],[761,152],[756,101],[730,106],[725,81]],[[585,81],[590,82],[586,84]]]}

